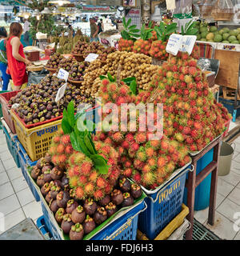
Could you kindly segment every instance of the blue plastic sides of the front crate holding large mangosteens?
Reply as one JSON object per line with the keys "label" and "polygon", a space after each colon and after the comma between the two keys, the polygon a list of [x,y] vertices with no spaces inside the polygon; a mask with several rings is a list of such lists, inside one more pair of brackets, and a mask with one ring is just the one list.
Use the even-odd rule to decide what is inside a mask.
{"label": "blue plastic sides of the front crate holding large mangosteens", "polygon": [[[54,226],[50,218],[50,212],[46,210],[46,206],[41,202],[42,213],[44,215],[47,230],[54,240],[62,240],[58,233],[58,228]],[[144,200],[135,206],[132,210],[124,214],[121,218],[106,226],[103,230],[95,234],[90,240],[136,240],[138,230],[138,215],[146,209]]]}

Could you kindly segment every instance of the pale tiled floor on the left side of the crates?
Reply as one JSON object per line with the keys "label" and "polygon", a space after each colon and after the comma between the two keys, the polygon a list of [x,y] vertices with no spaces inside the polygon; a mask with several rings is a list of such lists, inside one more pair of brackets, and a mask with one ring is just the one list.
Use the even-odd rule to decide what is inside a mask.
{"label": "pale tiled floor on the left side of the crates", "polygon": [[[5,230],[25,218],[32,218],[35,222],[42,216],[40,202],[35,201],[21,169],[16,166],[2,130],[0,130],[0,213],[4,214]],[[0,234],[2,234],[1,230]]]}

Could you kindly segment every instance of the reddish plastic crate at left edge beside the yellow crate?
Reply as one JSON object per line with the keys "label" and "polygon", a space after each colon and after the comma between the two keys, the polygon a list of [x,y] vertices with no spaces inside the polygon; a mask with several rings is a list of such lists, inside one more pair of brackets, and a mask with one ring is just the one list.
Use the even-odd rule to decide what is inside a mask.
{"label": "reddish plastic crate at left edge beside the yellow crate", "polygon": [[21,90],[14,90],[14,91],[9,91],[9,92],[0,94],[0,102],[2,104],[2,115],[6,124],[10,127],[10,130],[13,134],[16,134],[16,130],[15,130],[13,118],[11,117],[11,114],[10,114],[10,106],[8,102],[10,98],[17,95],[19,91]]}

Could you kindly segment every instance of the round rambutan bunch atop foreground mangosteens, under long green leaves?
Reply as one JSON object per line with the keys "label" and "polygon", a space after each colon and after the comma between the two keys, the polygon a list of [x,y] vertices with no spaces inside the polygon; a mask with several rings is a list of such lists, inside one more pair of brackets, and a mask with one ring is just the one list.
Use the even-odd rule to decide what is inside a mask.
{"label": "round rambutan bunch atop foreground mangosteens, under long green leaves", "polygon": [[100,174],[94,169],[94,162],[81,152],[74,152],[68,161],[67,177],[70,187],[75,190],[76,198],[94,198],[98,201],[113,190],[121,173],[118,167],[118,152],[103,142],[94,142],[99,155],[107,160],[110,166],[107,174]]}

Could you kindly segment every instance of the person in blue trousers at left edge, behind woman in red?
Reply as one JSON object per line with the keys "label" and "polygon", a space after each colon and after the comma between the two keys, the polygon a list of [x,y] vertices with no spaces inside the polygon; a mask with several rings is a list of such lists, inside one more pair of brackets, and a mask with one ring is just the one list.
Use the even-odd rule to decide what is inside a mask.
{"label": "person in blue trousers at left edge, behind woman in red", "polygon": [[7,90],[10,75],[6,74],[7,58],[6,58],[6,29],[4,26],[0,27],[0,70],[2,72],[2,90]]}

